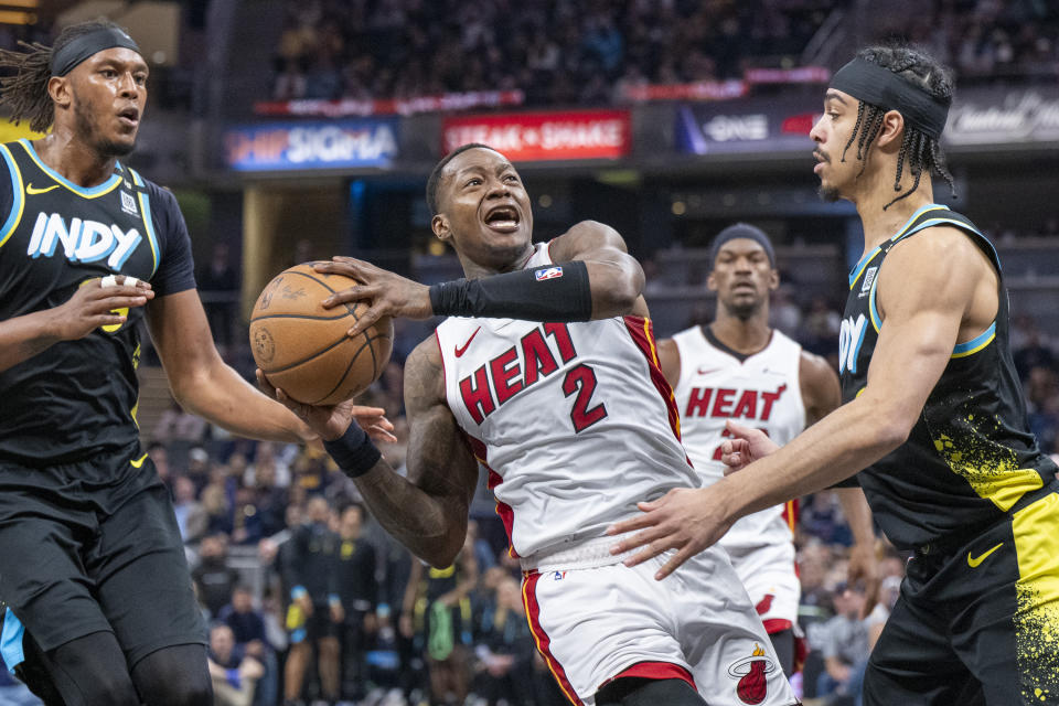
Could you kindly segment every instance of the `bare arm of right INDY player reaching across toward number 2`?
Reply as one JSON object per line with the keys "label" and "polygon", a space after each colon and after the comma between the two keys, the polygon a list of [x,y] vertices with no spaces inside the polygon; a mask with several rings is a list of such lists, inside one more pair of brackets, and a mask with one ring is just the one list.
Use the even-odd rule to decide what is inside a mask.
{"label": "bare arm of right INDY player reaching across toward number 2", "polygon": [[[738,473],[641,503],[644,514],[610,528],[611,534],[634,533],[612,552],[642,548],[625,560],[631,566],[676,549],[656,574],[664,578],[739,517],[834,485],[903,443],[965,321],[981,333],[996,314],[995,272],[981,252],[958,232],[931,236],[895,247],[880,270],[877,301],[884,322],[863,394]],[[978,300],[985,301],[985,313],[966,318]]]}

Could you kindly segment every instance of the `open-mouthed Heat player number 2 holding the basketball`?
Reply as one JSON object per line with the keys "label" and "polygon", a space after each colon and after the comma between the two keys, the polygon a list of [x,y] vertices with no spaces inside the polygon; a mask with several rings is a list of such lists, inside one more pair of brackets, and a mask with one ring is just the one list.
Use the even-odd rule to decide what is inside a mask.
{"label": "open-mouthed Heat player number 2 holding the basketball", "polygon": [[350,258],[318,265],[364,282],[324,301],[371,300],[351,335],[384,314],[450,315],[405,366],[408,479],[350,425],[347,403],[271,392],[327,440],[386,530],[437,567],[462,547],[488,469],[537,648],[571,703],[795,704],[724,550],[666,582],[653,579],[661,563],[630,570],[609,550],[607,527],[638,500],[700,485],[621,237],[584,222],[533,245],[517,172],[481,145],[438,163],[427,201],[468,279],[428,288]]}

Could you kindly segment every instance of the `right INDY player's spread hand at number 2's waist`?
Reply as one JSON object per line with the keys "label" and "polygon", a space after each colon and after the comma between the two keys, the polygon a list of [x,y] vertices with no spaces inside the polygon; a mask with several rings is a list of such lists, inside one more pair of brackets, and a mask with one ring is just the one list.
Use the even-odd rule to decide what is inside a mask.
{"label": "right INDY player's spread hand at number 2's waist", "polygon": [[715,498],[714,486],[675,488],[662,498],[637,503],[642,515],[611,525],[609,535],[635,534],[624,537],[610,548],[611,554],[641,552],[624,560],[625,566],[643,564],[670,549],[676,554],[654,575],[662,580],[728,532],[734,520],[728,520],[723,503]]}

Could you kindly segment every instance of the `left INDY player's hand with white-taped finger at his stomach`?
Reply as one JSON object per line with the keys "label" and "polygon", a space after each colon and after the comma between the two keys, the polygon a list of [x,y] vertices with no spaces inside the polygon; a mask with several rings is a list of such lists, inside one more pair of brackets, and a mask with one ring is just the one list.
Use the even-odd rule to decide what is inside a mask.
{"label": "left INDY player's hand with white-taped finger at his stomach", "polygon": [[[111,285],[107,281],[109,279],[116,279],[118,284]],[[131,277],[128,279],[133,280]],[[124,275],[86,280],[65,303],[52,309],[52,328],[58,340],[74,341],[99,327],[120,325],[128,318],[129,309],[142,307],[154,298],[149,282],[125,282]]]}

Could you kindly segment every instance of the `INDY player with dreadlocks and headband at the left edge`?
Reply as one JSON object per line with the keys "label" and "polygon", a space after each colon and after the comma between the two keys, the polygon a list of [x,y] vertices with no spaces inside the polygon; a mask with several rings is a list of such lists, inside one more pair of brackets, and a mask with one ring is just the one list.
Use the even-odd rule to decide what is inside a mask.
{"label": "INDY player with dreadlocks and headband at the left edge", "polygon": [[188,409],[313,435],[223,363],[176,201],[118,161],[147,103],[136,43],[90,22],[26,49],[0,52],[2,101],[51,132],[0,146],[0,649],[49,706],[206,706],[184,547],[139,442],[137,324]]}

